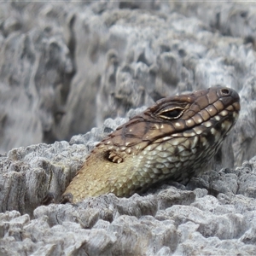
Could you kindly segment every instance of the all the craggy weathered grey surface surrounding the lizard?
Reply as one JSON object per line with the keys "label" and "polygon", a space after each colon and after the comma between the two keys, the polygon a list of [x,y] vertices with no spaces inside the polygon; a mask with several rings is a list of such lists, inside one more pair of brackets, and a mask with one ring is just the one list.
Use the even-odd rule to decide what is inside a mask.
{"label": "all the craggy weathered grey surface surrounding the lizard", "polygon": [[[1,3],[0,255],[254,255],[255,17],[235,2]],[[241,114],[201,177],[42,206],[127,118],[214,84]]]}

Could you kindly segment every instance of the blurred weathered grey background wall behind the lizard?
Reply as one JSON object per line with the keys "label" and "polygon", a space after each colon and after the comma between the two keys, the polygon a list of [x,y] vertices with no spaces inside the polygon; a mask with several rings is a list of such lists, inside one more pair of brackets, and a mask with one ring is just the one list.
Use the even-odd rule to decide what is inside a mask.
{"label": "blurred weathered grey background wall behind the lizard", "polygon": [[[255,104],[246,102],[254,98],[254,7],[154,1],[2,7],[0,150],[69,139],[161,96],[221,83],[243,88],[247,108],[237,125],[242,136],[227,140],[215,168],[255,154],[255,122],[247,120]],[[233,143],[247,145],[233,149]]]}

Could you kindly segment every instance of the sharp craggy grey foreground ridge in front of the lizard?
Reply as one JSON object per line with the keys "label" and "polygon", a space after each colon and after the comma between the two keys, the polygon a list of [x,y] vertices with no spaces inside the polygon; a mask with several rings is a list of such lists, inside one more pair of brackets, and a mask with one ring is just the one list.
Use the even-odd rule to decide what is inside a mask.
{"label": "sharp craggy grey foreground ridge in front of the lizard", "polygon": [[38,207],[33,219],[15,211],[1,213],[2,252],[179,255],[199,253],[200,245],[201,253],[253,254],[255,199],[227,193],[218,200],[196,189],[200,197],[170,207],[169,201],[157,204],[164,191],[170,196],[189,192],[171,187],[129,199],[102,195],[78,205]]}

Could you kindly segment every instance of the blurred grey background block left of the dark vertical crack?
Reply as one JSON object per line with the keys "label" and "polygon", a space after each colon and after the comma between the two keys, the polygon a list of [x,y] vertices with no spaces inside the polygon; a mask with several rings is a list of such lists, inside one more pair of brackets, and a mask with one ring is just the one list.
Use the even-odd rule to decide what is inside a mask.
{"label": "blurred grey background block left of the dark vertical crack", "polygon": [[[63,35],[55,30],[54,24],[42,22],[43,10],[34,5],[38,15],[35,19],[33,14],[29,16],[29,4],[3,3],[2,7],[1,152],[53,141],[73,73]],[[21,9],[24,15],[20,15]],[[37,20],[34,26],[32,20]]]}

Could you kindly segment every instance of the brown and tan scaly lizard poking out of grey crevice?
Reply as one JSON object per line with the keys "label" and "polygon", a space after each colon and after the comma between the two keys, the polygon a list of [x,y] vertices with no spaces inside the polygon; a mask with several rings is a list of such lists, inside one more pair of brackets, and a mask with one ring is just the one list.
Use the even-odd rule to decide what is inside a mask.
{"label": "brown and tan scaly lizard poking out of grey crevice", "polygon": [[235,124],[239,96],[226,87],[161,99],[96,145],[62,201],[129,196],[164,179],[200,174]]}

